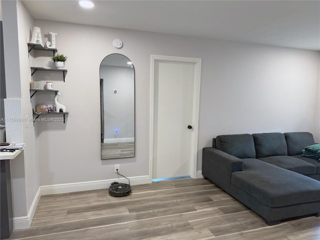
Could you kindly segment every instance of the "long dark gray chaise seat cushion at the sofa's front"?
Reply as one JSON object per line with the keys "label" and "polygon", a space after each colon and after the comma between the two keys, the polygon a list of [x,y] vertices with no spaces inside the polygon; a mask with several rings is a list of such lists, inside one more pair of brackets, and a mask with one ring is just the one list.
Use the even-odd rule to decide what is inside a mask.
{"label": "long dark gray chaise seat cushion at the sofa's front", "polygon": [[254,158],[242,160],[243,171],[232,172],[231,184],[263,204],[281,207],[320,201],[320,181]]}

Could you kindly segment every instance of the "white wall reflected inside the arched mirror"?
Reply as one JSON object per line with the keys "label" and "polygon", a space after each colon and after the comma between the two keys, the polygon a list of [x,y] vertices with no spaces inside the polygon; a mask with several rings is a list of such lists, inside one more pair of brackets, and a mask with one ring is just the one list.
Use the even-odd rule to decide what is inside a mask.
{"label": "white wall reflected inside the arched mirror", "polygon": [[103,78],[104,138],[115,138],[115,130],[117,138],[134,137],[133,68],[101,65],[100,78]]}

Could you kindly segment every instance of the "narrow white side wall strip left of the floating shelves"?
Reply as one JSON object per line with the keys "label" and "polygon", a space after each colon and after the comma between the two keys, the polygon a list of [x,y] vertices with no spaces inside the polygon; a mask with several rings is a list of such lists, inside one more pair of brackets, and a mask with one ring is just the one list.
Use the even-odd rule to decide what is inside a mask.
{"label": "narrow white side wall strip left of the floating shelves", "polygon": [[26,10],[21,1],[17,1],[17,23],[19,37],[19,66],[21,83],[21,102],[23,122],[23,142],[24,147],[24,174],[25,174],[25,194],[26,209],[29,211],[34,195],[39,188],[39,162],[37,152],[36,128],[32,121],[32,108],[30,101],[30,66],[34,65],[34,51],[28,56],[28,47],[26,42],[31,39],[30,33],[33,30],[33,18]]}

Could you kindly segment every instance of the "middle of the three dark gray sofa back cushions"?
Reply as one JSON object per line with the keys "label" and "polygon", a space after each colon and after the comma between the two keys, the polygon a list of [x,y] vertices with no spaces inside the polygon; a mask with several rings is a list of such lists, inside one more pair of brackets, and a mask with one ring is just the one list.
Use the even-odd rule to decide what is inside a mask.
{"label": "middle of the three dark gray sofa back cushions", "polygon": [[256,158],[287,155],[287,146],[282,133],[254,133],[252,136],[254,140]]}

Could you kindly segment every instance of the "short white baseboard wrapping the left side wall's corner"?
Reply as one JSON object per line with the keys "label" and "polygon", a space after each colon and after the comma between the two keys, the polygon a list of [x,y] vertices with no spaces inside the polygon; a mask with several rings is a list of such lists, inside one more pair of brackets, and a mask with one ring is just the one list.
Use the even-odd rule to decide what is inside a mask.
{"label": "short white baseboard wrapping the left side wall's corner", "polygon": [[41,196],[41,188],[39,187],[35,193],[35,196],[34,196],[33,201],[31,203],[28,214],[26,216],[13,217],[13,229],[14,230],[29,228],[29,226],[31,224],[31,220],[34,215],[34,212],[35,212],[35,208],[40,200],[40,196]]}

